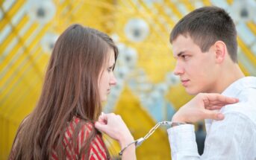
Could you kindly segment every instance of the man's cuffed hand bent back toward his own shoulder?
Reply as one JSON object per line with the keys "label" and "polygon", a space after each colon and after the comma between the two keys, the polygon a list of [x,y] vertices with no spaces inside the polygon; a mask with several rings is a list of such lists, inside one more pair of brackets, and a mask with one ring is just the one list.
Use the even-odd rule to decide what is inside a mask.
{"label": "man's cuffed hand bent back toward his own shoulder", "polygon": [[172,121],[193,124],[204,119],[222,120],[224,115],[217,109],[238,101],[237,98],[224,95],[199,93],[199,95],[196,95],[196,97],[178,109],[178,112],[172,117]]}

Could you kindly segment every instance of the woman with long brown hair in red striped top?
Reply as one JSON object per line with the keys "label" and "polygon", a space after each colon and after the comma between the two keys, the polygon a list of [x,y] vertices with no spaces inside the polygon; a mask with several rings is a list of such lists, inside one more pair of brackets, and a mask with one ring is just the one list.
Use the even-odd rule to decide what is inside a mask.
{"label": "woman with long brown hair in red striped top", "polygon": [[[67,28],[54,45],[40,100],[20,125],[9,159],[110,159],[94,122],[116,85],[117,56],[105,33]],[[134,140],[127,131],[117,139],[122,146]]]}

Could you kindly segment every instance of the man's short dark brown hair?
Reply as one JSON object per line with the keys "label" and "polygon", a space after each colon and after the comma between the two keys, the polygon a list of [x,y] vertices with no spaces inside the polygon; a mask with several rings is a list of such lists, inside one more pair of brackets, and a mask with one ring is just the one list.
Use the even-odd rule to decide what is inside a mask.
{"label": "man's short dark brown hair", "polygon": [[202,52],[216,41],[225,42],[228,54],[237,63],[237,31],[231,16],[219,7],[200,7],[182,18],[170,35],[172,43],[179,35],[190,36]]}

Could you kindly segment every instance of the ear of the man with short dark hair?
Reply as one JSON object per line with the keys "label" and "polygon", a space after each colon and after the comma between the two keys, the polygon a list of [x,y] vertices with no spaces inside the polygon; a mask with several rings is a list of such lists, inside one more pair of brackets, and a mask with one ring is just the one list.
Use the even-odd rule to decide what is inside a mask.
{"label": "ear of the man with short dark hair", "polygon": [[216,41],[213,47],[216,56],[216,63],[222,63],[222,61],[225,60],[227,54],[227,47],[225,45],[225,42]]}

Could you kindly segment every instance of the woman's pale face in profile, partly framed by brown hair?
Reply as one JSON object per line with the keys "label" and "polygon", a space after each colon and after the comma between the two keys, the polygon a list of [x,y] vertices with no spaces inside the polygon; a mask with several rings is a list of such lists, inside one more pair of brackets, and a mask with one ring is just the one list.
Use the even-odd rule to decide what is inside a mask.
{"label": "woman's pale face in profile, partly framed by brown hair", "polygon": [[99,96],[102,102],[107,100],[107,95],[110,94],[111,87],[116,85],[116,77],[113,75],[113,66],[116,63],[113,49],[110,49],[107,54],[109,57],[102,67],[98,80]]}

